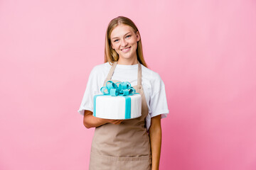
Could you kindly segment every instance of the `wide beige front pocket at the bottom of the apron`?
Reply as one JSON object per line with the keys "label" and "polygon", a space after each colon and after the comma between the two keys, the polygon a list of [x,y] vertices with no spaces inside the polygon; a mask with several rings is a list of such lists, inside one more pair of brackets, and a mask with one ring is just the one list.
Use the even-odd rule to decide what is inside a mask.
{"label": "wide beige front pocket at the bottom of the apron", "polygon": [[151,156],[112,157],[91,152],[90,170],[151,170]]}

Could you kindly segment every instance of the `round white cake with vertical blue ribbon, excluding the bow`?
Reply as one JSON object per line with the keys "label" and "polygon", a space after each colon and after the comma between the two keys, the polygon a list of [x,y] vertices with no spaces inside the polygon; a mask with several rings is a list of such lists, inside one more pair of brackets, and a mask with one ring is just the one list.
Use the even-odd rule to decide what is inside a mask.
{"label": "round white cake with vertical blue ribbon, excluding the bow", "polygon": [[97,118],[122,120],[139,118],[142,115],[142,96],[140,94],[131,96],[99,94],[95,95],[94,102],[93,115]]}

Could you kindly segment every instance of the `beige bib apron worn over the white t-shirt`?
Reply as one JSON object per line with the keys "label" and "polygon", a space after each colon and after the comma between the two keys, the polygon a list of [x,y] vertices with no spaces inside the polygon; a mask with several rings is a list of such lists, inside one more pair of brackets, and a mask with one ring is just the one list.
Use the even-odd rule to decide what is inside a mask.
{"label": "beige bib apron worn over the white t-shirt", "polygon": [[[114,62],[103,86],[111,80],[116,66]],[[90,170],[151,170],[151,148],[145,123],[149,110],[142,89],[141,64],[138,64],[137,86],[133,87],[142,95],[142,116],[124,120],[119,125],[107,123],[95,128]]]}

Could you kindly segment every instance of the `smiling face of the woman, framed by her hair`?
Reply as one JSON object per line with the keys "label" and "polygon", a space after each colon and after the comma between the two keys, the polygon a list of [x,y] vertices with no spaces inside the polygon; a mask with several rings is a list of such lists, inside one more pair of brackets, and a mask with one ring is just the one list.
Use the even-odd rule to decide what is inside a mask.
{"label": "smiling face of the woman, framed by her hair", "polygon": [[134,29],[130,26],[121,24],[112,30],[110,34],[111,47],[119,55],[119,59],[137,58],[137,42],[139,41],[139,33],[134,33]]}

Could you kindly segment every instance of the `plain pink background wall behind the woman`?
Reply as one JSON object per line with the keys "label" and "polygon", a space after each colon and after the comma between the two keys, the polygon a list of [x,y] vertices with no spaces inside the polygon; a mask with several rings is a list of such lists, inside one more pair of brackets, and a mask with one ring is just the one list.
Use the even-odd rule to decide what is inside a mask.
{"label": "plain pink background wall behind the woman", "polygon": [[255,1],[0,1],[0,169],[87,169],[77,111],[107,23],[137,24],[166,85],[160,169],[256,169]]}

